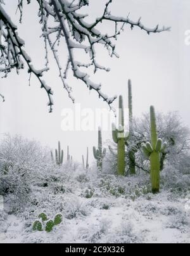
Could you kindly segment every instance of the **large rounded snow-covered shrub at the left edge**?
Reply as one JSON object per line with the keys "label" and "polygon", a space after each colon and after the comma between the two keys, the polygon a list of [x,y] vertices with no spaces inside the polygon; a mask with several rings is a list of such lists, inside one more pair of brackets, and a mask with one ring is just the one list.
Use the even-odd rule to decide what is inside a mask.
{"label": "large rounded snow-covered shrub at the left edge", "polygon": [[49,151],[21,136],[4,136],[0,146],[0,193],[22,203],[34,186],[48,186],[54,167]]}

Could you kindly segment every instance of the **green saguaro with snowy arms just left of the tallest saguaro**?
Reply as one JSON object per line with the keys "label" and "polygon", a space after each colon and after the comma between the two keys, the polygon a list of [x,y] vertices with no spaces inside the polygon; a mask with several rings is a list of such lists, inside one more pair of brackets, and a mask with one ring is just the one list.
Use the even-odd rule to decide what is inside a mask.
{"label": "green saguaro with snowy arms just left of the tallest saguaro", "polygon": [[124,101],[123,97],[119,98],[119,123],[118,129],[115,124],[112,124],[113,141],[117,143],[117,174],[125,175],[125,143],[129,136],[125,134],[124,127]]}

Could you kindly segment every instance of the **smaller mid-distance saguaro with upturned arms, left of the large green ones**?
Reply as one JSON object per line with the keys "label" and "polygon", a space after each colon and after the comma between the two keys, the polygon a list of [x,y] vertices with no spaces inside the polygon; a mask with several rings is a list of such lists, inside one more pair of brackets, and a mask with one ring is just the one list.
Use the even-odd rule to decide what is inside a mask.
{"label": "smaller mid-distance saguaro with upturned arms, left of the large green ones", "polygon": [[98,129],[98,149],[93,147],[94,158],[97,160],[99,170],[103,169],[103,159],[106,157],[106,148],[103,149],[101,128]]}

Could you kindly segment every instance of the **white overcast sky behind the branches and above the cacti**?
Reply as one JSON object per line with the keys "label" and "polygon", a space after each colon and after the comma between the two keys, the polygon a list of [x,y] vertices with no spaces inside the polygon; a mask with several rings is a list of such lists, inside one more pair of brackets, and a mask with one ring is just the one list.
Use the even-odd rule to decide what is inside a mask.
{"label": "white overcast sky behind the branches and above the cacti", "polygon": [[[23,24],[19,25],[19,16],[15,15],[16,0],[4,0],[6,11],[18,25],[18,32],[25,40],[27,53],[32,57],[36,68],[43,68],[44,46],[39,39],[41,27],[37,17],[37,3],[25,6]],[[89,20],[103,13],[106,1],[90,0]],[[97,49],[97,58],[101,65],[111,68],[110,73],[99,72],[93,79],[101,82],[103,91],[109,96],[122,94],[127,106],[127,80],[132,80],[134,115],[140,116],[148,112],[150,105],[155,105],[159,112],[178,111],[185,124],[190,127],[190,46],[184,43],[185,32],[190,29],[189,0],[113,0],[110,8],[113,15],[127,16],[142,22],[147,27],[160,25],[171,26],[171,32],[147,35],[135,28],[129,27],[120,35],[117,41],[119,59],[109,58],[105,49]],[[103,32],[111,31],[111,26],[105,23]],[[60,59],[67,56],[63,45]],[[81,61],[84,56],[77,54]],[[60,140],[64,149],[70,145],[70,151],[77,160],[81,159],[86,147],[97,144],[97,132],[63,132],[61,131],[61,110],[74,106],[66,91],[62,89],[58,70],[51,60],[51,70],[44,77],[47,84],[54,90],[53,113],[49,114],[46,106],[46,93],[39,89],[39,83],[32,78],[32,86],[28,87],[27,70],[15,72],[8,79],[0,80],[0,93],[6,96],[6,102],[0,104],[0,133],[22,134],[25,138],[35,138],[50,147],[55,147]],[[73,79],[68,80],[73,87],[76,103],[82,108],[107,108],[98,99],[96,93],[87,91],[84,84]],[[117,101],[115,102],[117,107]],[[110,133],[104,132],[104,139],[110,138]]]}

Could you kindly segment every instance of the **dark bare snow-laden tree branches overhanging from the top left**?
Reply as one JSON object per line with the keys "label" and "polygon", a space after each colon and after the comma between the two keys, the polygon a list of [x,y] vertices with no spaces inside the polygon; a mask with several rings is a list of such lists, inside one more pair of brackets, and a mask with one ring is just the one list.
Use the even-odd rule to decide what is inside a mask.
{"label": "dark bare snow-laden tree branches overhanging from the top left", "polygon": [[[35,70],[33,65],[31,65],[32,60],[28,54],[24,51],[24,41],[20,39],[17,28],[11,18],[4,11],[2,4],[3,0],[0,0],[0,72],[4,73],[4,77],[7,77],[8,73],[11,72],[13,68],[19,72],[20,69],[24,67],[24,63],[28,65],[28,72],[34,74],[39,80],[41,87],[45,89],[47,96],[49,98],[48,105],[50,106],[50,112],[52,111],[52,90],[50,87],[46,86],[46,83],[41,80],[42,74],[48,71],[49,68],[49,58],[48,51],[52,51],[54,60],[58,67],[59,76],[63,84],[63,88],[66,89],[68,96],[74,102],[75,99],[72,96],[72,87],[68,86],[66,79],[68,78],[68,71],[72,70],[73,76],[83,82],[90,90],[94,90],[98,93],[99,98],[103,99],[108,103],[111,108],[111,103],[115,100],[116,96],[109,98],[101,91],[101,84],[95,84],[90,79],[89,68],[93,67],[94,74],[98,70],[105,70],[109,72],[110,69],[103,67],[96,61],[96,46],[101,44],[105,46],[110,56],[118,57],[115,51],[115,41],[118,35],[124,30],[125,25],[130,25],[131,29],[134,27],[139,27],[139,29],[144,30],[148,34],[160,33],[170,30],[169,27],[160,28],[159,25],[153,27],[153,29],[148,29],[141,23],[141,18],[137,22],[130,20],[129,15],[124,17],[118,17],[111,15],[109,11],[110,4],[112,0],[109,0],[105,4],[105,10],[103,10],[103,15],[96,18],[93,23],[87,23],[85,18],[87,15],[80,14],[80,9],[84,6],[89,5],[89,0],[36,0],[39,4],[40,23],[42,25],[42,38],[44,40],[44,48],[46,51],[45,60],[46,67],[42,70]],[[22,22],[23,13],[23,3],[24,0],[18,0],[18,10],[20,11],[20,22]],[[30,0],[27,0],[30,4]],[[53,22],[54,21],[54,25]],[[113,28],[115,32],[111,35],[103,34],[97,28],[102,22],[113,23]],[[50,26],[51,23],[51,26]],[[4,41],[4,43],[2,43]],[[65,42],[66,48],[68,50],[68,58],[65,61],[66,67],[62,68],[60,63],[60,51],[59,46],[62,42]],[[88,63],[79,62],[75,59],[75,51],[84,51],[88,55]],[[84,72],[85,68],[85,72]],[[1,94],[0,94],[1,96]]]}

